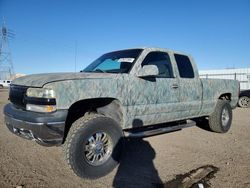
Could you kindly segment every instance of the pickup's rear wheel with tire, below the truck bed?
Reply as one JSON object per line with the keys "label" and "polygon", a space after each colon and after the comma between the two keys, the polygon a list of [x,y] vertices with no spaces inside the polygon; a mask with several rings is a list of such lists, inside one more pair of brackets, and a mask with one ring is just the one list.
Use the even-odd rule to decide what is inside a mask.
{"label": "pickup's rear wheel with tire, below the truck bed", "polygon": [[232,108],[227,100],[219,99],[214,112],[209,116],[209,128],[217,133],[226,133],[232,124]]}

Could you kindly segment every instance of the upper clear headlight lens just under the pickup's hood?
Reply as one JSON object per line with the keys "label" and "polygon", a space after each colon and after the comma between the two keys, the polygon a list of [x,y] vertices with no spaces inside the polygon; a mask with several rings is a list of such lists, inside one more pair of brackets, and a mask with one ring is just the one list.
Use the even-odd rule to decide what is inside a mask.
{"label": "upper clear headlight lens just under the pickup's hood", "polygon": [[26,95],[28,97],[56,98],[54,90],[46,88],[28,88]]}

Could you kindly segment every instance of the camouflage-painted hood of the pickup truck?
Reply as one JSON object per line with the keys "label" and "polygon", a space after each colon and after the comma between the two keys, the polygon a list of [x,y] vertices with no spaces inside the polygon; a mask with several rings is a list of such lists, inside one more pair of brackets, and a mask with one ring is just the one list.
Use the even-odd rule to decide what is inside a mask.
{"label": "camouflage-painted hood of the pickup truck", "polygon": [[12,81],[12,84],[31,87],[43,87],[47,83],[64,80],[102,79],[114,77],[116,77],[116,74],[110,73],[46,73],[23,76]]}

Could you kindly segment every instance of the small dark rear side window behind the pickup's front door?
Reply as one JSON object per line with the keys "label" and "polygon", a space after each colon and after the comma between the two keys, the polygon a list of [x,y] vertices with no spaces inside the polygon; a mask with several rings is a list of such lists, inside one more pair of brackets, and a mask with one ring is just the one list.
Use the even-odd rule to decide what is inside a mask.
{"label": "small dark rear side window behind the pickup's front door", "polygon": [[189,58],[185,55],[174,54],[181,78],[194,78],[194,70]]}

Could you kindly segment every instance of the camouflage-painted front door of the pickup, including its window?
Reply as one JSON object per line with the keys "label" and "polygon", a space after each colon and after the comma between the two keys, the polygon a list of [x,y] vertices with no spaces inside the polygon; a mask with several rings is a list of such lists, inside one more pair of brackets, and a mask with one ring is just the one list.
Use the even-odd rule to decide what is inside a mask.
{"label": "camouflage-painted front door of the pickup, including its window", "polygon": [[161,51],[149,52],[141,67],[145,65],[156,65],[159,74],[154,77],[138,78],[138,81],[147,87],[144,96],[150,96],[151,100],[146,100],[145,110],[136,116],[144,122],[144,125],[175,120],[178,116],[175,112],[180,105],[179,88],[169,54]]}

